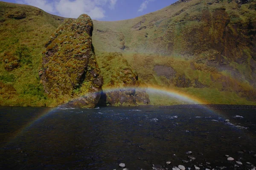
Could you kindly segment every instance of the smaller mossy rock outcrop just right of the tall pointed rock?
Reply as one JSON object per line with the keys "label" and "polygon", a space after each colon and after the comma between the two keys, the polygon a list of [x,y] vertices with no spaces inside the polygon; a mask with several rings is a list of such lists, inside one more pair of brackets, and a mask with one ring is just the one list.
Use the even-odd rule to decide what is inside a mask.
{"label": "smaller mossy rock outcrop just right of the tall pointed rock", "polygon": [[121,53],[102,53],[97,55],[97,61],[104,78],[102,105],[133,106],[150,103],[145,89],[140,88],[137,73]]}

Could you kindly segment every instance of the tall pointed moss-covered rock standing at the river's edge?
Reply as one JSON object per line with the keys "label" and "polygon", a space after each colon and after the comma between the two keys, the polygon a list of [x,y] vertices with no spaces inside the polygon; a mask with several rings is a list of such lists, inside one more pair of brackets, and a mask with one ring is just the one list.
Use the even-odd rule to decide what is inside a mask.
{"label": "tall pointed moss-covered rock standing at the river's edge", "polygon": [[39,76],[45,92],[66,106],[93,108],[99,102],[103,79],[92,48],[93,23],[82,14],[68,19],[46,43]]}

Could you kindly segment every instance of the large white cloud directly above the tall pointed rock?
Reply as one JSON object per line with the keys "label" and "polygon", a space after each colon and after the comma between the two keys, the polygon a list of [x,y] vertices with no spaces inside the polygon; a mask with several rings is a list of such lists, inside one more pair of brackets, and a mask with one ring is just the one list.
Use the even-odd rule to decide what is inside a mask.
{"label": "large white cloud directly above the tall pointed rock", "polygon": [[113,9],[117,0],[16,0],[17,3],[28,4],[54,13],[62,17],[77,18],[88,14],[92,19],[105,17],[104,8]]}

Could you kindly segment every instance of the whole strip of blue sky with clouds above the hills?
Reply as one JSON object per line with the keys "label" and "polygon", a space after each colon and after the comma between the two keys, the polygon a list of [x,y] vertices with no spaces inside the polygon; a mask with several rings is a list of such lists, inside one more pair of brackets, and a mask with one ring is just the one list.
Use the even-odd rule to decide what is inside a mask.
{"label": "whole strip of blue sky with clouds above the hills", "polygon": [[139,17],[175,3],[177,0],[3,0],[28,4],[61,17],[88,14],[93,20],[116,21]]}

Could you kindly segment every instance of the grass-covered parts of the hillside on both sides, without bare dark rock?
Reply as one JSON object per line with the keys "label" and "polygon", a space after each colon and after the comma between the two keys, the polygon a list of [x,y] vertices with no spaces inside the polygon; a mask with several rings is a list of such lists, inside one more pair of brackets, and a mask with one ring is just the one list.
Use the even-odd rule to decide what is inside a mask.
{"label": "grass-covered parts of the hillside on both sides, without bare dark rock", "polygon": [[[93,45],[96,54],[99,54],[97,60],[101,60],[99,66],[106,82],[103,88],[109,85],[111,79],[108,75],[108,67],[104,68],[104,65],[109,65],[109,61],[105,59],[104,55],[106,57],[109,57],[109,55],[101,52],[119,51],[123,55],[121,58],[119,56],[118,59],[114,59],[114,62],[121,61],[123,58],[128,61],[128,64],[125,60],[122,60],[123,62],[119,64],[111,65],[111,69],[118,70],[121,65],[125,67],[131,65],[131,68],[138,73],[140,82],[182,91],[209,103],[256,105],[255,100],[253,100],[255,88],[250,85],[247,79],[237,80],[232,75],[233,70],[238,70],[244,77],[250,77],[251,74],[247,74],[247,72],[251,72],[248,65],[228,62],[231,68],[230,71],[220,70],[217,65],[209,66],[207,63],[198,62],[198,58],[200,60],[204,59],[205,56],[211,57],[210,54],[214,51],[206,51],[204,54],[193,57],[184,57],[181,55],[182,51],[179,47],[184,45],[186,41],[180,41],[180,44],[177,43],[172,54],[166,54],[166,49],[164,49],[167,48],[166,41],[162,40],[161,37],[166,37],[166,33],[170,31],[169,26],[172,26],[172,29],[175,26],[175,35],[186,37],[186,35],[180,34],[179,30],[182,29],[178,24],[186,13],[182,12],[182,14],[174,15],[182,9],[186,9],[190,17],[200,15],[202,6],[207,6],[207,4],[205,2],[195,5],[198,2],[199,0],[192,0],[188,3],[178,3],[131,20],[93,21]],[[213,4],[210,8],[225,5],[228,8],[226,11],[232,13],[236,12],[232,9],[233,3],[227,3],[227,0],[224,0],[222,4]],[[239,21],[241,19],[246,20],[244,14],[251,15],[251,10],[247,8],[247,4],[242,6],[239,12],[243,14],[234,18],[234,22],[241,22]],[[26,18],[15,20],[7,17],[15,11],[25,11]],[[41,68],[41,53],[45,50],[44,43],[55,32],[62,19],[32,6],[0,2],[0,105],[55,105],[56,101],[48,99],[47,95],[44,94],[43,86],[38,78],[38,70]],[[145,22],[144,19],[146,19]],[[133,28],[141,21],[141,26]],[[187,21],[183,25],[183,29],[186,26],[194,27],[194,24],[195,21]],[[138,31],[143,26],[147,28]],[[180,38],[180,40],[183,39]],[[153,54],[149,55],[148,53]],[[6,59],[12,60],[13,58],[19,61],[19,67],[13,71],[6,71],[4,68]],[[166,78],[157,75],[154,71],[156,65],[172,67],[176,76]],[[190,84],[189,87],[179,88],[177,84],[184,83],[183,80],[180,80],[183,75],[185,76],[185,82],[190,81]],[[119,80],[116,78],[112,81],[119,84]],[[196,87],[196,82],[200,82],[203,88]],[[169,100],[168,96],[151,94],[150,97],[151,104],[154,105],[178,104],[175,100]]]}

